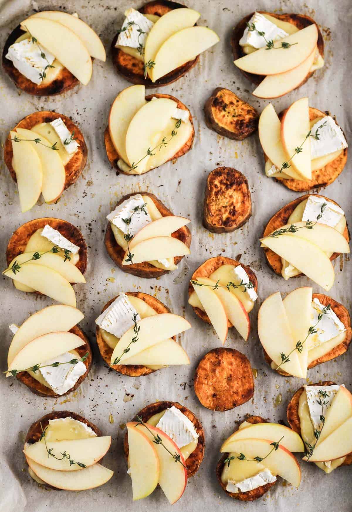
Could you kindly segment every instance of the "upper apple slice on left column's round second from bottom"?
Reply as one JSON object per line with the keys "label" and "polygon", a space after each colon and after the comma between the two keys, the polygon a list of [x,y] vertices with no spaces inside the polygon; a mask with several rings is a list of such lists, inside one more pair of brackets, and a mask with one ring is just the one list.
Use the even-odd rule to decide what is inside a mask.
{"label": "upper apple slice on left column's round second from bottom", "polygon": [[10,366],[13,358],[32,339],[51,332],[65,332],[83,320],[84,314],[79,309],[57,304],[37,311],[19,327],[12,338],[7,355]]}

